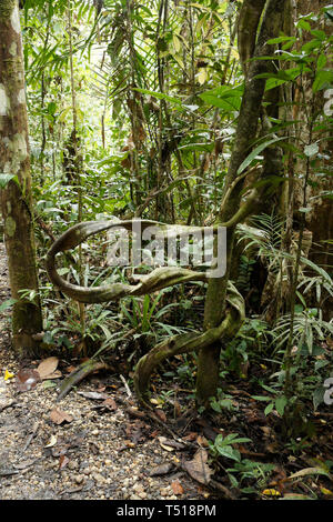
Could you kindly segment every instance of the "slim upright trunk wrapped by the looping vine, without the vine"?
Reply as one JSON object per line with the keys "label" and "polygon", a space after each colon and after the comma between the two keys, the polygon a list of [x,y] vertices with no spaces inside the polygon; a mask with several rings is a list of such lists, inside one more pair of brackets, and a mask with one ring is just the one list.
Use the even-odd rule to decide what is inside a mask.
{"label": "slim upright trunk wrapped by the looping vine, without the vine", "polygon": [[[269,46],[268,40],[279,36],[282,28],[283,14],[286,0],[269,0],[264,12],[263,21],[260,28],[258,41],[256,33],[260,23],[261,13],[264,9],[264,1],[245,0],[242,7],[243,12],[240,17],[239,40],[240,33],[246,32],[246,38],[241,39],[242,49],[240,52],[242,61],[252,57],[272,56],[274,52],[273,46]],[[251,32],[249,32],[249,16],[246,11],[255,13],[251,18],[252,23]],[[245,13],[244,13],[245,11]],[[243,24],[243,26],[242,26]],[[241,204],[241,191],[244,183],[244,178],[236,182],[238,170],[241,163],[249,154],[251,140],[256,135],[258,122],[261,114],[261,104],[264,94],[265,81],[258,79],[256,76],[268,72],[270,68],[270,60],[251,61],[248,64],[245,77],[245,89],[242,99],[242,106],[239,116],[238,129],[233,145],[232,155],[230,159],[228,175],[225,180],[225,192],[233,185],[226,203],[220,211],[219,222],[228,222],[236,213]],[[230,270],[233,259],[233,243],[234,243],[235,225],[228,229],[226,242],[226,273],[221,279],[211,279],[208,285],[208,293],[204,310],[204,329],[216,327],[221,323],[225,309],[225,291],[230,277]],[[223,342],[223,340],[221,340]],[[226,340],[224,340],[225,342]],[[216,394],[219,382],[219,360],[220,360],[221,342],[214,345],[202,349],[198,358],[198,380],[196,380],[196,399],[201,404],[208,405],[210,396]]]}

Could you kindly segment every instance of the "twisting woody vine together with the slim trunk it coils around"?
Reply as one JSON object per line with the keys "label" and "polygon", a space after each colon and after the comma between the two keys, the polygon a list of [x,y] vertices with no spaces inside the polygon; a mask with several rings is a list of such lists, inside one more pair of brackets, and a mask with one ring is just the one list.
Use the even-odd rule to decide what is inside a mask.
{"label": "twisting woody vine together with the slim trunk it coils around", "polygon": [[[244,161],[251,152],[252,140],[258,134],[259,121],[262,117],[262,101],[265,90],[263,76],[271,67],[271,60],[262,60],[262,58],[274,53],[274,44],[268,42],[279,36],[287,4],[287,0],[268,0],[266,2],[245,0],[242,6],[239,26],[241,33],[243,32],[242,27],[251,14],[251,27],[245,32],[246,38],[239,41],[241,61],[245,72],[244,93],[225,178],[224,193],[214,225],[215,228],[219,225],[228,228],[226,273],[223,278],[208,280],[203,332],[175,335],[158,344],[139,361],[134,384],[138,398],[143,404],[147,404],[145,395],[149,380],[157,365],[168,357],[190,351],[196,351],[199,354],[196,399],[199,403],[208,404],[209,398],[215,394],[218,388],[221,347],[225,345],[235,335],[244,319],[243,299],[230,281],[232,265],[238,263],[238,259],[233,257],[235,229],[249,215],[260,212],[262,199],[270,187],[272,172],[268,168],[270,162],[265,161],[263,169],[258,170],[255,188],[250,190],[250,194],[244,201],[242,191],[248,175],[244,174],[245,169],[242,165],[244,165]],[[269,150],[274,151],[274,149],[268,149],[266,160],[270,157]],[[273,173],[276,174],[275,169]],[[157,224],[157,222],[141,221],[143,228],[151,224]],[[206,280],[203,272],[181,268],[157,269],[149,275],[141,277],[140,282],[134,285],[117,283],[111,287],[88,289],[70,284],[60,278],[56,270],[56,254],[58,252],[74,248],[89,235],[112,227],[124,227],[130,230],[132,221],[122,221],[117,224],[110,221],[80,223],[67,231],[52,245],[48,254],[48,273],[51,281],[63,293],[79,302],[105,302],[117,301],[127,295],[149,294],[185,281]],[[78,382],[80,379],[81,374],[78,372],[73,380]],[[62,391],[65,392],[67,390],[68,385],[64,384]]]}

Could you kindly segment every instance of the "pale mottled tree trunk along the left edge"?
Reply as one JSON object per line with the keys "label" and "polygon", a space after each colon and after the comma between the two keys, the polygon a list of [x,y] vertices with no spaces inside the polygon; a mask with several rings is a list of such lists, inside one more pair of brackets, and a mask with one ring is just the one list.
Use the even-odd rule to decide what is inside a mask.
{"label": "pale mottled tree trunk along the left edge", "polygon": [[[42,314],[36,267],[28,118],[19,4],[0,0],[0,189],[4,241],[9,260],[13,348],[37,349],[33,334],[42,330]],[[30,298],[20,297],[29,289]]]}

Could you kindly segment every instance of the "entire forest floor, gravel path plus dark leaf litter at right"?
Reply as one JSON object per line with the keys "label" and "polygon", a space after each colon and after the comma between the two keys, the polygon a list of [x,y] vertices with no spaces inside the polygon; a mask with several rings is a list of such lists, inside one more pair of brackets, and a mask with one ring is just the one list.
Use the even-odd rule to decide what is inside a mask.
{"label": "entire forest floor, gravel path plus dark leaf litter at right", "polygon": [[[0,303],[9,297],[0,242]],[[155,423],[117,372],[94,373],[57,402],[75,362],[49,355],[19,360],[0,312],[0,500],[333,499],[327,406],[312,415],[311,441],[286,444],[279,415],[264,414],[266,403],[252,399],[258,385],[243,379],[228,384],[229,411],[199,415],[189,390],[179,390],[172,408],[157,405]],[[242,460],[212,461],[209,444],[230,433],[251,439],[236,445]]]}

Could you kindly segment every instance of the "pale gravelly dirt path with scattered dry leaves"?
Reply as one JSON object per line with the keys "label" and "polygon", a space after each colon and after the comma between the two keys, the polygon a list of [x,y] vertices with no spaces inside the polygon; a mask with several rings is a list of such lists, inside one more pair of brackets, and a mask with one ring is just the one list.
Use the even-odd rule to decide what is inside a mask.
{"label": "pale gravelly dirt path with scattered dry leaves", "polygon": [[[0,303],[9,297],[0,242]],[[124,404],[135,406],[135,401],[119,375],[97,374],[57,403],[59,381],[46,380],[26,392],[17,389],[19,370],[39,363],[16,360],[8,317],[0,315],[0,500],[209,498],[176,466],[192,459],[193,450],[168,446],[161,439],[165,433],[148,419],[129,415]],[[14,377],[6,380],[6,371]],[[100,399],[80,394],[91,391]],[[54,409],[69,415],[60,424]]]}

